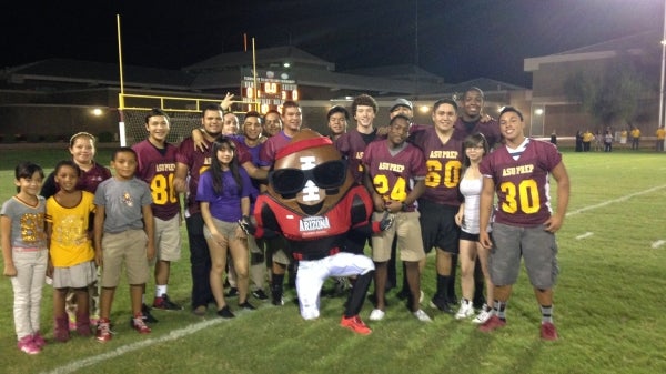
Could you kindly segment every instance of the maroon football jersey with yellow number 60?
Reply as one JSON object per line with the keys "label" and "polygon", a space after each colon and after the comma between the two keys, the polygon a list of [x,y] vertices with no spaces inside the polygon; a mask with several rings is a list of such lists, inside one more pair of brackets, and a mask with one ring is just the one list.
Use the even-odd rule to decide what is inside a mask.
{"label": "maroon football jersey with yellow number 60", "polygon": [[435,128],[430,127],[415,132],[412,135],[412,143],[423,151],[427,168],[425,193],[422,198],[440,204],[460,206],[462,196],[458,184],[463,166],[463,142],[452,135],[446,144],[443,144]]}

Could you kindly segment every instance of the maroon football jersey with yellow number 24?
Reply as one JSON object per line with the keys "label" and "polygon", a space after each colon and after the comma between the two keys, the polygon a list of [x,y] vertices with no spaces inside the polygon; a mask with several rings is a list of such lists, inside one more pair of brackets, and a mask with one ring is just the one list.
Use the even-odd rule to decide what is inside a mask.
{"label": "maroon football jersey with yellow number 24", "polygon": [[[423,152],[410,143],[392,154],[387,140],[374,141],[365,148],[362,162],[375,191],[385,200],[404,201],[412,192],[412,180],[424,179],[427,172]],[[407,210],[414,208],[412,203]]]}

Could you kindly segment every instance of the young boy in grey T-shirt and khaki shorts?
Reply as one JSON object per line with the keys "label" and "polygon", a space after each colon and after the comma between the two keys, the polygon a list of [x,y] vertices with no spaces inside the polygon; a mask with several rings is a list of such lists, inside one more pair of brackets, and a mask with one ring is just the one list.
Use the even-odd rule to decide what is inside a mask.
{"label": "young boy in grey T-shirt and khaki shorts", "polygon": [[130,283],[132,327],[150,333],[141,313],[141,295],[149,277],[148,262],[155,256],[152,198],[148,184],[134,176],[137,164],[131,148],[115,150],[111,158],[115,176],[100,183],[94,194],[94,252],[97,264],[102,266],[97,331],[101,343],[111,340],[109,315],[123,263]]}

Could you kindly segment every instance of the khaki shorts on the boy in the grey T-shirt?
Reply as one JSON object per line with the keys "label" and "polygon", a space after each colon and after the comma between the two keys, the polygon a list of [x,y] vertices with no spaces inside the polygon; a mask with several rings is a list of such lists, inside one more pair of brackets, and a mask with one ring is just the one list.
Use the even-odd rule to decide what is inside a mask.
{"label": "khaki shorts on the boy in the grey T-shirt", "polygon": [[128,283],[144,284],[149,277],[145,249],[148,236],[143,230],[104,233],[102,236],[102,287],[117,287],[124,263]]}

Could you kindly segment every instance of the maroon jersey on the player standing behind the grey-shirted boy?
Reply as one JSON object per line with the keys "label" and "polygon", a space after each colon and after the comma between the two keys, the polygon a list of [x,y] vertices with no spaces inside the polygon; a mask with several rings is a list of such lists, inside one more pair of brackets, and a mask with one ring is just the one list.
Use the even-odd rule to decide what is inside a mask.
{"label": "maroon jersey on the player standing behind the grey-shirted boy", "polygon": [[173,188],[178,149],[165,143],[162,153],[148,140],[134,144],[132,149],[139,159],[137,178],[150,185],[153,215],[160,220],[174,218],[180,213],[179,194]]}

